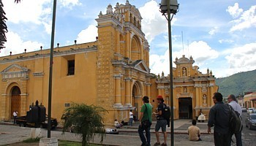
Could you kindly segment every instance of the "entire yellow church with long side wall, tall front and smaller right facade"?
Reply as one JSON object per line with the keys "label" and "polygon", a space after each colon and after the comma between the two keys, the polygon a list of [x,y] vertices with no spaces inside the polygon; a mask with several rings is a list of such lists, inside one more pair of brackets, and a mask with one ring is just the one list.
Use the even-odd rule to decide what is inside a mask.
{"label": "entire yellow church with long side wall, tall front and smaller right facade", "polygon": [[[170,77],[150,72],[149,45],[138,9],[127,1],[117,3],[114,10],[108,5],[106,14],[98,16],[94,42],[57,44],[53,49],[51,115],[59,122],[72,103],[103,107],[108,110],[103,115],[105,123],[113,123],[114,119],[129,120],[129,110],[138,118],[143,96],[150,98],[154,109],[157,95],[170,101]],[[208,111],[213,105],[215,78],[211,72],[201,74],[193,63],[184,56],[175,61],[175,119],[195,118],[200,109]],[[48,109],[49,69],[50,49],[42,47],[0,58],[0,120],[11,120],[15,110],[19,116],[26,115],[35,101]]]}

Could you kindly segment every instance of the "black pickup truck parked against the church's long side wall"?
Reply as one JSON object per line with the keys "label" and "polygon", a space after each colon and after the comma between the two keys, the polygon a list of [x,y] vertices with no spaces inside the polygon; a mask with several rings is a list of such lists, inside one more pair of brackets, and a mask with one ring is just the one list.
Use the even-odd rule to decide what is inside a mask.
{"label": "black pickup truck parked against the church's long side wall", "polygon": [[[35,123],[29,123],[28,120],[26,120],[26,116],[21,116],[16,118],[16,123],[21,127],[31,126],[35,127]],[[51,128],[56,128],[58,125],[56,118],[51,118],[50,120]],[[45,121],[42,123],[39,123],[40,128],[48,128],[48,117],[45,117]]]}

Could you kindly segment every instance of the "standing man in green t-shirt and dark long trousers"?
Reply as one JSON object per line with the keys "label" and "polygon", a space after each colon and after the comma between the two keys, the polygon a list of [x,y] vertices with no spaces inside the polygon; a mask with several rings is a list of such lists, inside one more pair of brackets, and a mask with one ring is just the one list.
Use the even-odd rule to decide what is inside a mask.
{"label": "standing man in green t-shirt and dark long trousers", "polygon": [[[148,103],[149,99],[148,96],[143,97],[143,106],[140,110],[140,126],[138,128],[138,133],[140,135],[140,141],[142,142],[141,146],[150,146],[150,126],[152,123],[152,107],[151,104]],[[145,126],[143,123],[146,122],[150,123],[148,126]],[[146,138],[143,134],[143,131],[146,133]]]}

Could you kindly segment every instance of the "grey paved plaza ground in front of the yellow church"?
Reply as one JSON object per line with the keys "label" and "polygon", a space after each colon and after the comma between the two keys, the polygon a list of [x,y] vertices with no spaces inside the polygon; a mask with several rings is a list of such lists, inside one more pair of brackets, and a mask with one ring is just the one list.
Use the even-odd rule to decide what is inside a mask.
{"label": "grey paved plaza ground in front of the yellow church", "polygon": [[[0,145],[7,145],[16,142],[21,142],[24,139],[28,139],[30,135],[31,128],[21,128],[19,126],[7,126],[7,123],[0,124]],[[156,122],[153,122],[151,126],[151,145],[157,142],[154,134],[154,126]],[[187,146],[187,145],[197,145],[197,146],[211,146],[214,145],[213,134],[207,133],[207,123],[197,123],[202,133],[201,142],[191,142],[187,139],[187,127],[191,125],[191,120],[174,120],[174,145],[177,146]],[[138,123],[134,123],[133,126],[124,126],[118,128],[120,134],[106,134],[103,140],[103,145],[120,145],[120,146],[130,146],[130,145],[140,145],[140,137],[138,136]],[[167,128],[167,145],[170,145],[170,128]],[[65,132],[62,134],[61,131],[51,131],[51,137],[56,137],[62,140],[81,142],[80,136]],[[125,133],[125,134],[124,134]],[[47,129],[42,129],[42,137],[47,137]],[[205,139],[205,140],[204,140]],[[163,142],[163,136],[160,134],[160,140]],[[100,138],[95,136],[92,143],[100,143]]]}

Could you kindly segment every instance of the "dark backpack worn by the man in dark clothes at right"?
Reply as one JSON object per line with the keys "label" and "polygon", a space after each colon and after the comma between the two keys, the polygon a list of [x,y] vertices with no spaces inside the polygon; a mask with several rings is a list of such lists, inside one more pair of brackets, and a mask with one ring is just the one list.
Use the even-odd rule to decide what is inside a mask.
{"label": "dark backpack worn by the man in dark clothes at right", "polygon": [[241,115],[237,111],[233,110],[233,107],[231,107],[230,104],[227,104],[227,107],[230,110],[230,132],[232,134],[238,133],[243,127]]}

